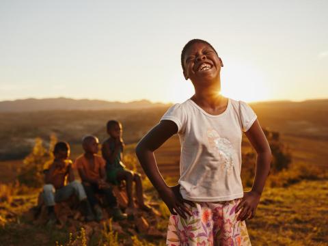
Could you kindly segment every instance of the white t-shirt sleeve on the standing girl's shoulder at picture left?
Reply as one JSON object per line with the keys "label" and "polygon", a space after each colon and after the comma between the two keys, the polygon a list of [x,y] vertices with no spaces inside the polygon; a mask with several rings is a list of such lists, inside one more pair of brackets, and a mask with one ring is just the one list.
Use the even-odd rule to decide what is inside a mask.
{"label": "white t-shirt sleeve on the standing girl's shoulder at picture left", "polygon": [[178,133],[182,133],[186,124],[186,115],[182,109],[182,105],[180,103],[176,103],[175,105],[169,107],[160,121],[162,120],[173,121],[178,126]]}

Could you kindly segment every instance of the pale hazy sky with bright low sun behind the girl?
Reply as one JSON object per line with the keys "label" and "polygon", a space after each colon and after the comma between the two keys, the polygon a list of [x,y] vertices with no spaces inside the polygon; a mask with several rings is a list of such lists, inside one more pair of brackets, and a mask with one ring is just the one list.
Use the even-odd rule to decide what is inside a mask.
{"label": "pale hazy sky with bright low sun behind the girl", "polygon": [[182,102],[192,38],[223,59],[235,99],[328,98],[328,1],[0,0],[0,100]]}

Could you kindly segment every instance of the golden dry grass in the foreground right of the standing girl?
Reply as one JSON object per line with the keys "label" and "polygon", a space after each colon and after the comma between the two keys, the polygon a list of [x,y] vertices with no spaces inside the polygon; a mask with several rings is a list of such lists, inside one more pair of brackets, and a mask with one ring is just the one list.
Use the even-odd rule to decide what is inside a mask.
{"label": "golden dry grass in the foreground right of the standing girl", "polygon": [[264,191],[247,221],[253,245],[327,245],[328,180],[303,180]]}

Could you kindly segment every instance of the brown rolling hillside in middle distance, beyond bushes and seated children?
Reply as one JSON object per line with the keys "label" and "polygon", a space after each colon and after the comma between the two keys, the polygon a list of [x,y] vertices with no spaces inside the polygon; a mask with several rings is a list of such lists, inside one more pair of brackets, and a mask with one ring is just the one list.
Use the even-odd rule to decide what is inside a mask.
{"label": "brown rolling hillside in middle distance, beyond bushes and seated children", "polygon": [[[312,156],[316,164],[328,164],[325,151],[328,148],[328,100],[250,105],[262,127],[279,132],[291,150],[297,152],[297,158]],[[122,122],[126,143],[136,143],[159,122],[167,107],[0,113],[0,161],[23,159],[31,151],[36,137],[49,141],[51,133],[68,141],[73,146],[72,154],[81,152],[81,138],[94,134],[103,141],[107,137],[105,124],[111,119]]]}

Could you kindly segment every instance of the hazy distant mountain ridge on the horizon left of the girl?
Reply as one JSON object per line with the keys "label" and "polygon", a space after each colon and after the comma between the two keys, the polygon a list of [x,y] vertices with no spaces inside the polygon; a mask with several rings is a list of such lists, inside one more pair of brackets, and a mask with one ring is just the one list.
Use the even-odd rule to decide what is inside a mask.
{"label": "hazy distant mountain ridge on the horizon left of the girl", "polygon": [[108,109],[145,109],[164,107],[164,103],[149,100],[133,102],[109,102],[106,100],[75,100],[72,98],[19,99],[0,102],[0,112],[47,111],[47,110],[108,110]]}

